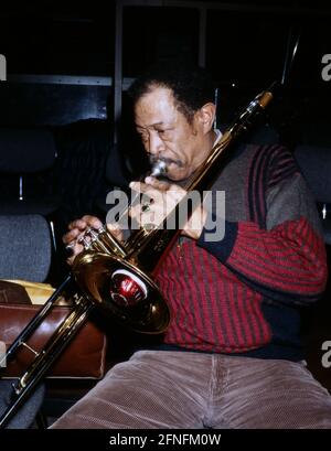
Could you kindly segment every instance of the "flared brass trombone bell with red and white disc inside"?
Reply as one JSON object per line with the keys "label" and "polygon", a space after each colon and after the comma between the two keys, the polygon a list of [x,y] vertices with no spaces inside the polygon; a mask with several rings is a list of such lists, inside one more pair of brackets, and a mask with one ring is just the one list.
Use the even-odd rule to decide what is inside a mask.
{"label": "flared brass trombone bell with red and white disc inside", "polygon": [[134,331],[159,334],[168,327],[170,311],[158,287],[129,261],[85,251],[75,258],[73,276],[86,298]]}

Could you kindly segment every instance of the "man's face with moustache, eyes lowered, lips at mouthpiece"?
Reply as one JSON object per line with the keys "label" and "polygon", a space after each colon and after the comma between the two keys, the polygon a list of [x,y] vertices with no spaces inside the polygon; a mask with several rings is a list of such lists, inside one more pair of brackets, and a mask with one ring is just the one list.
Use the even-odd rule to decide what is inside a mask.
{"label": "man's face with moustache, eyes lowered, lips at mouthpiece", "polygon": [[170,89],[156,86],[143,95],[135,106],[135,119],[147,153],[166,161],[169,179],[186,179],[206,158],[199,120],[194,116],[192,124],[188,121]]}

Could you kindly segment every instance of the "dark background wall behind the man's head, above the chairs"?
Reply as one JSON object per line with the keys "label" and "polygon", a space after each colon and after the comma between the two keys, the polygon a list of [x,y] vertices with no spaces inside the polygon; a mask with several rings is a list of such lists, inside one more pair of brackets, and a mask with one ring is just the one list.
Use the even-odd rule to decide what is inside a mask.
{"label": "dark background wall behind the man's head, above the chairs", "polygon": [[[220,86],[220,121],[228,121],[276,79],[282,87],[273,111],[277,125],[293,140],[329,143],[323,129],[331,82],[321,77],[321,58],[331,52],[330,7],[291,0],[206,3],[205,65]],[[223,9],[213,9],[217,6]],[[115,1],[85,6],[55,0],[1,6],[0,53],[7,57],[9,83],[0,85],[0,125],[64,125],[90,117],[111,121],[115,7]],[[125,8],[124,77],[160,60],[197,62],[199,21],[195,8]],[[18,78],[26,74],[38,75],[39,83]],[[74,76],[74,84],[65,75]],[[96,78],[86,85],[84,76]],[[108,79],[103,86],[96,80],[102,77]]]}

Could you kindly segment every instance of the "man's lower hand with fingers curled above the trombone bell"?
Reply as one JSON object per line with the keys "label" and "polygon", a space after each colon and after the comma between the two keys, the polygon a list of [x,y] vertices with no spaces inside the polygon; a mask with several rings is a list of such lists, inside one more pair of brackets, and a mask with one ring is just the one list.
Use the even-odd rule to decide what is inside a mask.
{"label": "man's lower hand with fingers curled above the trombone bell", "polygon": [[[72,265],[75,257],[84,250],[81,239],[84,237],[88,228],[98,230],[103,227],[103,223],[96,216],[83,216],[81,219],[75,219],[68,225],[68,230],[62,238],[67,248],[71,249],[72,255],[67,258],[67,264]],[[122,239],[122,233],[117,224],[107,224],[107,229],[119,240]]]}

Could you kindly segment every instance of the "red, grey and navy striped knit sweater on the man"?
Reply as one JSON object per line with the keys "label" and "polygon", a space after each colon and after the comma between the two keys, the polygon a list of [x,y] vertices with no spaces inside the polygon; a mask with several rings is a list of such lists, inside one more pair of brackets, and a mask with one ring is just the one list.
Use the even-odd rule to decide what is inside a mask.
{"label": "red, grey and navy striped knit sweater on the man", "polygon": [[213,190],[225,191],[224,238],[207,241],[206,230],[197,241],[181,237],[156,277],[172,310],[164,344],[302,358],[300,311],[321,296],[327,260],[314,201],[291,153],[242,146]]}

